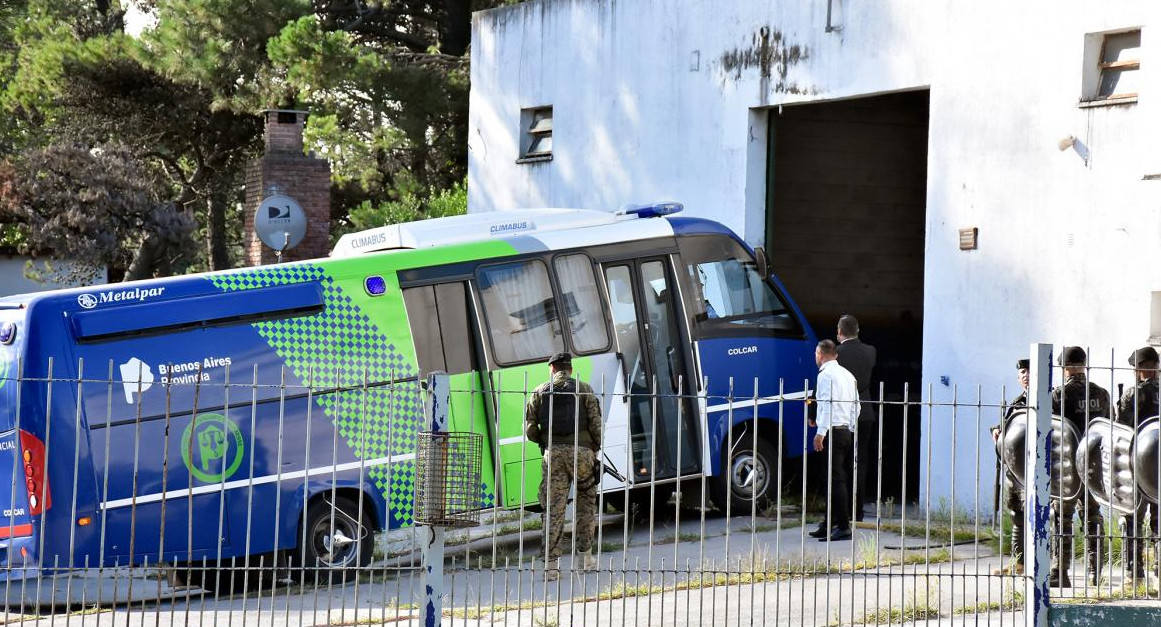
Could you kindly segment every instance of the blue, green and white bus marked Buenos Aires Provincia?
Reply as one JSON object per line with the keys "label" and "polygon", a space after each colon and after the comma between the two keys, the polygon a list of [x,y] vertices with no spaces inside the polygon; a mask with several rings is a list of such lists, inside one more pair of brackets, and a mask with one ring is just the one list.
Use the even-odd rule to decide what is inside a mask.
{"label": "blue, green and white bus marked Buenos Aires Provincia", "polygon": [[534,504],[522,408],[557,351],[600,395],[610,502],[704,476],[749,511],[778,438],[802,454],[777,401],[806,396],[816,338],[760,250],[679,209],[437,218],[327,259],[0,300],[0,576],[365,564],[412,524],[431,372],[450,428],[484,437],[484,506]]}

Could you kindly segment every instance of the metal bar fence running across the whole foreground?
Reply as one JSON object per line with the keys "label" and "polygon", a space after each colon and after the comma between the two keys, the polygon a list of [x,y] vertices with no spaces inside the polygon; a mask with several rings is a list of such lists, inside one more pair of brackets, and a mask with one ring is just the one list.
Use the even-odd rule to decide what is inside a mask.
{"label": "metal bar fence running across the whole foreground", "polygon": [[[538,493],[540,452],[511,435],[522,427],[531,381],[513,392],[453,379],[447,403],[425,404],[430,390],[414,377],[171,376],[150,382],[159,387],[158,412],[143,401],[145,379],[114,365],[104,377],[85,376],[84,363],[74,377],[53,376],[51,363],[48,376],[31,377],[21,365],[5,380],[10,420],[0,434],[0,452],[10,452],[0,459],[10,464],[0,529],[6,620],[418,624],[432,618],[434,598],[445,625],[1036,625],[1048,614],[1030,591],[1050,583],[1052,610],[1161,601],[1159,408],[1117,413],[1118,388],[1137,374],[1111,354],[1105,362],[1115,366],[1081,368],[1110,390],[1108,420],[1089,391],[1088,428],[1069,431],[1067,419],[1052,427],[1051,411],[1040,410],[1065,373],[1041,348],[1027,410],[1005,401],[1022,391],[1015,376],[993,390],[880,387],[874,421],[852,434],[865,452],[845,470],[834,446],[801,454],[813,445],[812,410],[793,395],[618,396],[606,392],[611,382],[594,381],[606,411],[632,396],[627,404],[643,413],[627,427],[621,459],[597,456],[589,558],[577,524],[586,470],[570,471],[562,555],[547,564],[553,525]],[[741,383],[731,389],[757,389]],[[1061,404],[1069,401],[1066,390]],[[694,425],[676,438],[659,419],[672,402],[678,420]],[[440,485],[456,485],[461,513],[468,491],[462,476],[416,483],[419,433],[440,411],[433,405],[449,410],[440,418],[447,432],[471,427],[483,439],[471,461],[483,477],[471,480],[481,510],[456,519],[478,517],[477,526],[411,525],[418,488],[426,487],[425,507],[439,511]],[[709,475],[717,452],[707,445],[704,410],[722,406],[730,454]],[[779,426],[791,423],[796,428]],[[994,425],[1000,442],[1018,442],[1008,455]],[[686,432],[693,441],[682,441]],[[666,438],[677,456],[670,471],[658,453]],[[500,452],[513,442],[515,462]],[[455,447],[439,451],[434,467],[456,467]],[[572,455],[562,468],[578,467],[580,454]],[[851,538],[814,538],[820,524],[841,518],[829,498],[836,476],[860,471],[866,512],[849,506]],[[553,495],[543,497],[549,510]],[[1026,563],[1012,550],[1012,529],[1025,519]]]}

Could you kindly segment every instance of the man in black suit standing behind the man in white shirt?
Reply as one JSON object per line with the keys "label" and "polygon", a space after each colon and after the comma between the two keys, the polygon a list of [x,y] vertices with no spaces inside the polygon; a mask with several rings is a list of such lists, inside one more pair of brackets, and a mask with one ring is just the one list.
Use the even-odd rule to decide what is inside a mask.
{"label": "man in black suit standing behind the man in white shirt", "polygon": [[[879,437],[875,427],[879,416],[871,402],[871,370],[874,369],[875,349],[859,339],[859,320],[850,314],[838,318],[838,365],[854,375],[859,385],[859,426],[856,431],[858,473],[851,482],[854,519],[863,520],[863,504],[873,502],[879,476]],[[873,471],[872,471],[873,470]]]}

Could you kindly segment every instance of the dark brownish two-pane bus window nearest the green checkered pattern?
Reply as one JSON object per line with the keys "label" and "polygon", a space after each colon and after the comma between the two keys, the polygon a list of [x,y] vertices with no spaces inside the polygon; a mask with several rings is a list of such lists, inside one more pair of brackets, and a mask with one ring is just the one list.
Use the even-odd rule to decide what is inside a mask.
{"label": "dark brownish two-pane bus window nearest the green checkered pattern", "polygon": [[424,374],[433,370],[461,374],[473,369],[470,311],[464,288],[457,281],[403,290],[416,358]]}

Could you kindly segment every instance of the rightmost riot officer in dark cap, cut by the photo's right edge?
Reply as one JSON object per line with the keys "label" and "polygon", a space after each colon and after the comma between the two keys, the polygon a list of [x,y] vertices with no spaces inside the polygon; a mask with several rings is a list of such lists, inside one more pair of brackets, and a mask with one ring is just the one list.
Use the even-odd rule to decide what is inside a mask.
{"label": "rightmost riot officer in dark cap, cut by the photo's right edge", "polygon": [[[1158,352],[1152,346],[1138,348],[1128,356],[1128,365],[1135,369],[1137,384],[1125,390],[1117,403],[1117,421],[1130,426],[1134,432],[1141,423],[1159,413],[1158,406]],[[1125,517],[1125,534],[1127,535],[1128,572],[1137,579],[1145,578],[1144,538],[1146,502],[1137,509],[1135,516]],[[1149,514],[1149,528],[1158,532],[1158,511],[1154,505]]]}

